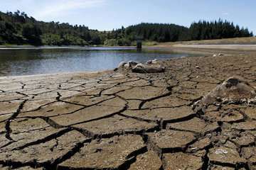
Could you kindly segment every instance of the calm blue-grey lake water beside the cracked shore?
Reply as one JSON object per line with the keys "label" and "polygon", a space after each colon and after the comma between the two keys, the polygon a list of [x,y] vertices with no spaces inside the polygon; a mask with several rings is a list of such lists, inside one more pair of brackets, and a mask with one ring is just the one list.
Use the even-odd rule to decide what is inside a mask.
{"label": "calm blue-grey lake water beside the cracked shore", "polygon": [[0,48],[0,77],[114,69],[119,62],[166,60],[188,56],[162,49],[137,51],[132,47]]}

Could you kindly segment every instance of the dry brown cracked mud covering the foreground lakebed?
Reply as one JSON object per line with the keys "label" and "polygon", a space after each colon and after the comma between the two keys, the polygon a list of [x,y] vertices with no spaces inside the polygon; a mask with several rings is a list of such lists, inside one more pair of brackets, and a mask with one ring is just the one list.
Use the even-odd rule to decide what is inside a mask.
{"label": "dry brown cracked mud covering the foreground lakebed", "polygon": [[256,102],[194,107],[230,76],[256,86],[255,57],[1,79],[0,169],[255,170]]}

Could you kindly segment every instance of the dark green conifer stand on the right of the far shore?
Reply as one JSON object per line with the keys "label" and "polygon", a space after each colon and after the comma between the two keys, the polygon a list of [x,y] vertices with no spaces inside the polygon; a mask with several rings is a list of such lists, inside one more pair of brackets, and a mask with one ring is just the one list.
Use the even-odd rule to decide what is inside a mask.
{"label": "dark green conifer stand on the right of the far shore", "polygon": [[122,29],[114,30],[112,37],[127,38],[132,41],[140,38],[145,41],[175,42],[253,36],[247,28],[240,28],[234,26],[233,23],[222,20],[214,22],[199,21],[198,23],[192,23],[190,28],[174,24],[140,23],[129,26],[125,30]]}

